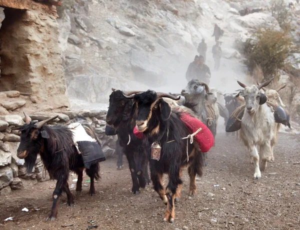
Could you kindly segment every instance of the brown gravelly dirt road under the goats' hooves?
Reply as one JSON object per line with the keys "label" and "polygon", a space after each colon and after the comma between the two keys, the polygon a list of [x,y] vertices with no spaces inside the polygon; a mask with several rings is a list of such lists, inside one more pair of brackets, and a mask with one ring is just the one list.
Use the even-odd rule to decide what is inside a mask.
{"label": "brown gravelly dirt road under the goats' hooves", "polygon": [[[275,162],[268,163],[260,180],[253,180],[253,165],[244,146],[235,137],[219,133],[208,154],[208,166],[196,181],[195,197],[188,197],[185,171],[173,224],[163,222],[165,205],[150,185],[138,195],[130,193],[124,157],[124,169],[119,171],[115,169],[116,159],[101,163],[96,195],[89,197],[84,186],[75,196],[75,206],[67,208],[63,194],[56,221],[44,221],[50,211],[54,181],[27,184],[23,190],[1,196],[0,228],[86,229],[91,225],[88,221],[94,220],[97,229],[300,229],[300,164],[293,164],[300,161],[299,149],[298,135],[280,134]],[[69,184],[75,183],[74,178],[71,176]],[[29,211],[21,211],[23,207]],[[33,209],[36,207],[39,210]],[[3,221],[9,216],[13,216],[12,221]]]}

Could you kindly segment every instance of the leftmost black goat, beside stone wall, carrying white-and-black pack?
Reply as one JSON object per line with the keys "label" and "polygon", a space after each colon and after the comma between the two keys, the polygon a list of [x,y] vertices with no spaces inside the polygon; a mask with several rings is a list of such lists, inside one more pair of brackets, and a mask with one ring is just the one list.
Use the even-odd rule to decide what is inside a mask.
{"label": "leftmost black goat, beside stone wall, carrying white-and-black pack", "polygon": [[[19,127],[21,131],[20,145],[17,148],[17,157],[25,159],[28,173],[32,172],[37,154],[43,161],[45,168],[48,170],[50,178],[56,179],[56,186],[52,194],[53,204],[49,216],[54,220],[57,215],[58,198],[62,191],[67,195],[67,205],[74,206],[73,195],[69,190],[67,179],[69,170],[78,174],[76,191],[81,192],[82,172],[84,164],[81,154],[78,154],[76,147],[73,145],[72,131],[62,124],[47,125],[50,120],[57,116],[48,118],[39,122],[32,122],[31,118],[24,112],[25,124]],[[86,132],[93,138],[97,139],[92,128],[85,120],[78,119]],[[89,169],[85,169],[86,174],[90,177],[89,194],[95,193],[94,179],[99,179],[99,164],[91,164]]]}

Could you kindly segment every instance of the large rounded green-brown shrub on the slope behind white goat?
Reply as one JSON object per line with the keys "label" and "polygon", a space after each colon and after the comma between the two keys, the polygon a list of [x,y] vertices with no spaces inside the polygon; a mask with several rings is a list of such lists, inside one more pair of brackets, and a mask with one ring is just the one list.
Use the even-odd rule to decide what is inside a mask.
{"label": "large rounded green-brown shrub on the slope behind white goat", "polygon": [[287,31],[271,28],[258,29],[243,45],[245,64],[252,73],[255,66],[262,70],[264,78],[276,76],[277,70],[287,63],[290,53],[296,52]]}

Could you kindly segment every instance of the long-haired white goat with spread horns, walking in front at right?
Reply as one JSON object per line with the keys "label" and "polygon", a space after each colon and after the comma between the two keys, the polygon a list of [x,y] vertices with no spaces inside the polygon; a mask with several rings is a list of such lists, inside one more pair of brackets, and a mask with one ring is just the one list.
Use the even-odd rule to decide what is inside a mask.
{"label": "long-haired white goat with spread horns, walking in front at right", "polygon": [[[261,177],[260,170],[266,168],[266,162],[274,159],[273,145],[276,142],[276,124],[274,114],[265,102],[267,97],[259,89],[268,85],[273,78],[258,86],[246,86],[237,81],[244,88],[236,96],[245,98],[245,110],[241,119],[240,138],[250,151],[254,163],[254,179]],[[257,147],[259,146],[259,154]],[[259,165],[259,157],[261,162]],[[260,167],[260,168],[259,168]]]}

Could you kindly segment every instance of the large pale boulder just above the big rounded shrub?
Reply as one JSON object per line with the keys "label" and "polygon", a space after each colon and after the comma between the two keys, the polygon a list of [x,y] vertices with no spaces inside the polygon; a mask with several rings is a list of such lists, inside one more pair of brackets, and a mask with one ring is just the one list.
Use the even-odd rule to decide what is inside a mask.
{"label": "large pale boulder just above the big rounded shrub", "polygon": [[266,26],[280,30],[278,21],[267,13],[250,13],[245,16],[236,17],[235,21],[247,29],[258,29],[262,26]]}

